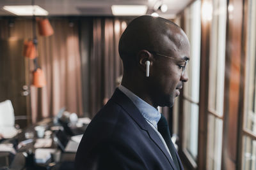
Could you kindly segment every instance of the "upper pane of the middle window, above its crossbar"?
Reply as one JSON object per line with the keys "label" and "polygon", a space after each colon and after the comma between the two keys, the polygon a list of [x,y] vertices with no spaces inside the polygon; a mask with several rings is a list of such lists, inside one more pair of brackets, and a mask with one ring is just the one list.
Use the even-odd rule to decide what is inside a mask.
{"label": "upper pane of the middle window, above its crossbar", "polygon": [[223,115],[227,1],[212,1],[209,110]]}

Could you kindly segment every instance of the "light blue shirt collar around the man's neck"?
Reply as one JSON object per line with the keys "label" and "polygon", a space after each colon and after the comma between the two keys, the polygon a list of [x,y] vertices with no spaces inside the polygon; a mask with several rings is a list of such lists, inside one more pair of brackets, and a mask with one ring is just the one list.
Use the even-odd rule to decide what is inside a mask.
{"label": "light blue shirt collar around the man's neck", "polygon": [[157,129],[157,123],[161,118],[161,113],[159,113],[156,108],[143,101],[140,97],[136,96],[133,92],[124,86],[119,85],[118,89],[121,90],[127,97],[129,97],[129,99],[131,99],[132,103],[135,104],[143,117]]}

